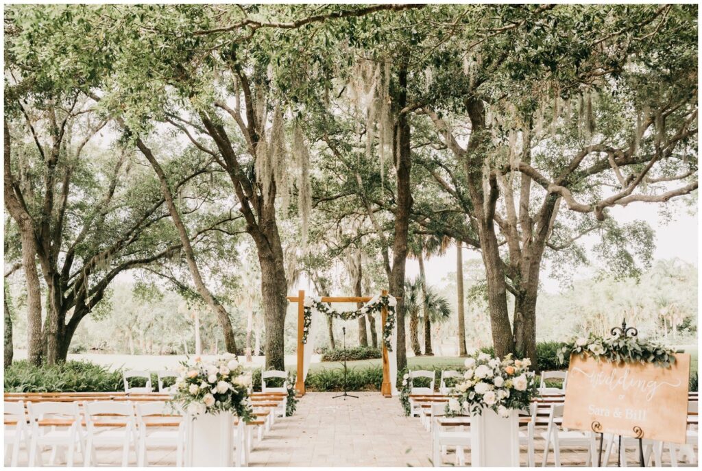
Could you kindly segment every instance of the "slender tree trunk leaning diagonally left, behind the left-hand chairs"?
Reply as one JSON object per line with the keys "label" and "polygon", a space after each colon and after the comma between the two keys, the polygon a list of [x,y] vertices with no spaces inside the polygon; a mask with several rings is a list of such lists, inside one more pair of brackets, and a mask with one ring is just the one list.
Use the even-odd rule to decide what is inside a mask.
{"label": "slender tree trunk leaning diagonally left, behind the left-hand chairs", "polygon": [[192,250],[192,245],[190,244],[190,237],[187,234],[183,220],[180,218],[180,213],[178,213],[178,208],[176,208],[176,203],[173,201],[173,193],[171,192],[171,186],[168,185],[168,178],[166,178],[166,173],[164,173],[163,168],[158,163],[154,154],[151,150],[146,147],[144,142],[137,138],[136,140],[139,150],[144,154],[144,157],[150,162],[154,171],[159,177],[159,182],[161,183],[161,193],[164,195],[166,200],[166,206],[168,206],[168,213],[171,215],[171,220],[173,220],[173,225],[178,229],[178,235],[180,236],[180,243],[183,244],[183,251],[185,252],[185,260],[187,260],[187,267],[192,275],[192,281],[197,288],[197,292],[205,300],[205,302],[213,310],[217,320],[222,328],[222,333],[224,335],[225,347],[227,352],[237,353],[237,343],[234,340],[234,329],[232,328],[232,321],[229,318],[229,314],[225,310],[224,306],[220,304],[219,300],[215,298],[205,285],[200,270],[197,267],[197,262],[195,261],[195,253]]}

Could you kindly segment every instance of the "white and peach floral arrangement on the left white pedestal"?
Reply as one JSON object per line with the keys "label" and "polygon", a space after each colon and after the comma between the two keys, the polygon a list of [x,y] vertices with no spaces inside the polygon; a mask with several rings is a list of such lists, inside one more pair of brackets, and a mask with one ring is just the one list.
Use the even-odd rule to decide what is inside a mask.
{"label": "white and peach floral arrangement on the left white pedestal", "polygon": [[244,371],[233,354],[212,361],[202,361],[200,357],[183,361],[179,371],[172,404],[194,416],[232,412],[250,420],[251,373]]}

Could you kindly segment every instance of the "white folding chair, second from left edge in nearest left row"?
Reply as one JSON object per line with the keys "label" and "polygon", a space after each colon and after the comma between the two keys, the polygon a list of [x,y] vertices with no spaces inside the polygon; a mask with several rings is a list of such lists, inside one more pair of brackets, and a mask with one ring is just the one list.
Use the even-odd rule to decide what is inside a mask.
{"label": "white folding chair, second from left edge in nearest left row", "polygon": [[83,452],[85,449],[78,404],[76,402],[27,402],[27,412],[29,412],[29,423],[32,427],[29,441],[29,467],[44,464],[41,458],[41,450],[44,446],[51,446],[49,465],[54,465],[58,447],[65,446],[66,465],[72,467],[76,449]]}

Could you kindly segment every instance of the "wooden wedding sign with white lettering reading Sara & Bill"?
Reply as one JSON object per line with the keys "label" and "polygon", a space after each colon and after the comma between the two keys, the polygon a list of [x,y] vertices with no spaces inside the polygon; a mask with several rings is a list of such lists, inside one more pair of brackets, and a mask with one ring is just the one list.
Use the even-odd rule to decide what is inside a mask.
{"label": "wooden wedding sign with white lettering reading Sara & Bill", "polygon": [[670,368],[572,354],[563,427],[682,444],[689,370],[685,353]]}

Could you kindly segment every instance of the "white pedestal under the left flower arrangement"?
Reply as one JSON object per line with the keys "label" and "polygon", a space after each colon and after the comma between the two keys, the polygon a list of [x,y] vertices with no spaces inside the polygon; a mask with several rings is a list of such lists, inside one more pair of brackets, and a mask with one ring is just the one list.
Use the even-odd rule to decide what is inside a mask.
{"label": "white pedestal under the left flower arrangement", "polygon": [[234,415],[206,413],[186,418],[185,465],[233,466]]}

